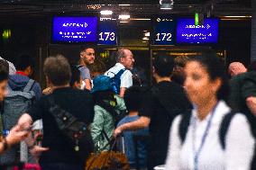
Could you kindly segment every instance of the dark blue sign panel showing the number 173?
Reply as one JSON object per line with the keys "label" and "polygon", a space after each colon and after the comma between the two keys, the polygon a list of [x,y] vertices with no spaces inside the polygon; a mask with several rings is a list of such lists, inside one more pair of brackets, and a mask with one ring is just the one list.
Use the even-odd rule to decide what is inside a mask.
{"label": "dark blue sign panel showing the number 173", "polygon": [[116,45],[116,21],[106,20],[99,22],[98,44]]}

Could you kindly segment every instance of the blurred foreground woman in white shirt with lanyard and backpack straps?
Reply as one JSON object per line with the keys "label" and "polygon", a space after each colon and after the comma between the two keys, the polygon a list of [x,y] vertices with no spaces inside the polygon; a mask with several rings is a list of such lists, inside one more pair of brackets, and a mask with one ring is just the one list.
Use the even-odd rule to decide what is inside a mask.
{"label": "blurred foreground woman in white shirt with lanyard and backpack straps", "polygon": [[250,169],[254,139],[245,116],[224,102],[228,84],[221,60],[209,54],[189,58],[185,75],[194,109],[172,123],[166,169]]}

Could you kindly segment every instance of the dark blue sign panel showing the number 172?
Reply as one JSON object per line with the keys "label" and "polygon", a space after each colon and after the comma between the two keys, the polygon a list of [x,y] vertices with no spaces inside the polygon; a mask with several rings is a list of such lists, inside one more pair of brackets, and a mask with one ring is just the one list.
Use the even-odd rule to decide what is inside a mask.
{"label": "dark blue sign panel showing the number 172", "polygon": [[175,22],[172,19],[157,18],[154,28],[154,45],[174,45]]}

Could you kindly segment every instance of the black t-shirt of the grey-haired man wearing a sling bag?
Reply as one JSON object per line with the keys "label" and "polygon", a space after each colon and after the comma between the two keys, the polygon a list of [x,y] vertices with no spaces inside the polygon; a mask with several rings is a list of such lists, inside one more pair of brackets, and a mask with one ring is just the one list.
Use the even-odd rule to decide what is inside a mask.
{"label": "black t-shirt of the grey-haired man wearing a sling bag", "polygon": [[[90,124],[94,119],[94,103],[91,94],[88,91],[75,90],[70,87],[59,88],[54,90],[50,95],[54,96],[55,103],[63,110],[70,112],[79,121]],[[84,164],[85,160],[78,157],[74,150],[71,139],[62,134],[58,125],[48,111],[50,108],[49,96],[44,95],[41,100],[32,106],[29,114],[33,121],[42,119],[43,139],[42,147],[50,148],[49,151],[41,154],[41,163],[75,163]],[[86,151],[89,152],[89,151]],[[88,154],[88,153],[86,153]]]}

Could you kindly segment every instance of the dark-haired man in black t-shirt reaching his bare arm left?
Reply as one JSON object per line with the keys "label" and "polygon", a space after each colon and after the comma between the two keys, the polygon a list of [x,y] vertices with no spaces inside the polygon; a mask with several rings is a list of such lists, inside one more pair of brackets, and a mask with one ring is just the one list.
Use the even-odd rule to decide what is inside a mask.
{"label": "dark-haired man in black t-shirt reaching his bare arm left", "polygon": [[153,76],[157,82],[144,94],[140,119],[125,123],[114,130],[114,136],[124,130],[150,128],[148,169],[163,165],[167,156],[169,128],[179,113],[191,108],[182,86],[170,81],[174,66],[173,58],[160,56],[153,60]]}

